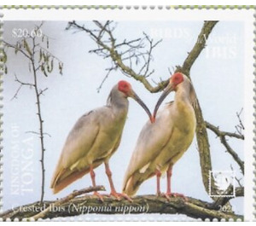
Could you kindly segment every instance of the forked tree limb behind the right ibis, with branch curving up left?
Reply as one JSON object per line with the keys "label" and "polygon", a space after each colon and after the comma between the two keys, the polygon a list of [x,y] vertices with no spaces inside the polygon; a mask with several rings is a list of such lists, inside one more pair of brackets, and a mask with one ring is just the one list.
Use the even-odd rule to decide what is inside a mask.
{"label": "forked tree limb behind the right ibis, with branch curving up left", "polygon": [[[189,52],[189,55],[183,62],[182,67],[178,66],[175,72],[183,72],[188,76],[188,78],[190,78],[189,76],[190,69],[195,63],[198,56],[201,54],[201,51],[206,47],[207,38],[209,37],[213,27],[217,23],[218,21],[204,22],[204,25],[201,28],[201,32],[197,38],[197,42],[195,43],[193,49],[191,49],[191,51]],[[111,22],[107,21],[106,25],[102,26],[101,23],[96,22],[96,26],[98,27],[98,29],[91,30],[91,29],[85,28],[84,26],[80,26],[75,21],[72,21],[72,22],[69,22],[67,29],[74,28],[76,30],[88,33],[90,38],[95,40],[99,46],[99,49],[94,50],[96,54],[100,55],[99,53],[101,53],[102,55],[105,55],[105,57],[110,56],[113,62],[115,63],[116,67],[118,67],[121,70],[121,72],[141,82],[149,92],[154,93],[154,92],[159,92],[160,90],[163,90],[166,87],[166,85],[169,83],[169,78],[164,81],[160,81],[160,83],[156,84],[156,86],[152,86],[148,82],[148,79],[146,76],[143,76],[142,74],[135,72],[131,67],[125,65],[125,62],[123,61],[123,58],[122,58],[122,54],[119,53],[118,50],[116,49],[116,46],[118,44],[115,43],[116,40],[115,38],[113,38],[113,34],[112,34],[112,31],[114,28],[109,29],[110,24]],[[100,32],[101,35],[97,36],[96,32]],[[104,34],[107,34],[108,38],[103,39]],[[126,41],[124,43],[126,43]],[[143,48],[143,45],[141,44],[138,44],[138,46],[140,48]],[[201,106],[198,100],[197,100],[197,105],[195,107],[195,115],[196,115],[196,121],[197,121],[196,139],[198,144],[198,151],[200,154],[201,175],[202,175],[204,186],[208,193],[210,190],[209,189],[209,171],[212,171],[212,160],[211,160],[211,154],[210,154],[210,145],[209,145],[208,136],[207,136],[207,128],[201,112]],[[218,188],[213,182],[213,178],[211,177],[210,180],[212,181],[211,190],[213,192],[218,192]]]}

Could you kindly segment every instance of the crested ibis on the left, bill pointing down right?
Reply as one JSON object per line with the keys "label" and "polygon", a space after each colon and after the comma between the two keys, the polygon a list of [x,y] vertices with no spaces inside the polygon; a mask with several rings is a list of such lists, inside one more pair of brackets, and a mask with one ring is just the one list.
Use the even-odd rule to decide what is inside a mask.
{"label": "crested ibis on the left, bill pointing down right", "polygon": [[[127,195],[116,192],[108,165],[121,141],[129,107],[127,97],[137,101],[152,119],[148,107],[132,90],[131,84],[119,81],[113,86],[107,105],[85,113],[67,136],[50,185],[54,194],[89,172],[92,185],[96,186],[94,169],[104,163],[111,188],[110,195],[118,200],[122,196],[129,199]],[[103,200],[101,194],[94,194]]]}

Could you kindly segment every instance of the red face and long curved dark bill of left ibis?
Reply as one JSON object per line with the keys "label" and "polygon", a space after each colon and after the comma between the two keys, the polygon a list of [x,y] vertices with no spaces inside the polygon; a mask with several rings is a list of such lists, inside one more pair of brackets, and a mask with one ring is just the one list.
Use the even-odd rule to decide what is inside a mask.
{"label": "red face and long curved dark bill of left ibis", "polygon": [[125,94],[126,97],[131,97],[132,99],[134,99],[135,101],[137,101],[137,103],[143,107],[143,109],[146,111],[146,113],[148,113],[148,117],[152,122],[152,115],[150,113],[150,111],[148,110],[148,107],[144,104],[144,102],[141,100],[141,98],[139,96],[137,96],[137,94],[135,93],[135,91],[132,90],[131,88],[131,84],[129,84],[128,82],[122,80],[119,81],[118,83],[118,89],[120,92],[123,92]]}

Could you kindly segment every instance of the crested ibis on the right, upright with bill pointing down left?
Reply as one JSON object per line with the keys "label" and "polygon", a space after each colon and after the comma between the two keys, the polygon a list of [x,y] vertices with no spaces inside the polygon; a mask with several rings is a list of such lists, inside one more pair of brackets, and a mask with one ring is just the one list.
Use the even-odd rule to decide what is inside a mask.
{"label": "crested ibis on the right, upright with bill pointing down left", "polygon": [[[174,101],[157,113],[160,104],[171,91],[175,91]],[[189,148],[195,135],[195,90],[189,78],[181,72],[172,75],[166,90],[156,103],[153,121],[144,125],[136,148],[125,173],[123,193],[132,196],[148,178],[156,176],[157,194],[160,193],[160,176],[166,172],[166,199],[183,196],[171,191],[172,166]]]}

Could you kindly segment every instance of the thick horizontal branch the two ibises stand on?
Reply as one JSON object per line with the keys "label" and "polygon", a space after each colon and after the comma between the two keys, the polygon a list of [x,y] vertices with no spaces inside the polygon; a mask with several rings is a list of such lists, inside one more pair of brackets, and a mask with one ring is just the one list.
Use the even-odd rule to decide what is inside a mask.
{"label": "thick horizontal branch the two ibises stand on", "polygon": [[201,218],[202,220],[225,219],[233,220],[242,219],[242,216],[234,214],[234,212],[221,212],[213,209],[211,203],[189,198],[184,201],[180,197],[172,197],[170,201],[163,197],[155,195],[136,196],[132,202],[128,200],[116,200],[106,197],[104,202],[92,195],[85,195],[74,198],[84,192],[75,192],[75,194],[57,201],[44,201],[43,206],[39,202],[26,206],[19,206],[8,212],[3,212],[0,217],[3,220],[8,218],[54,218],[54,217],[73,217],[84,214],[145,214],[145,213],[161,213],[161,214],[185,214],[188,217]]}

